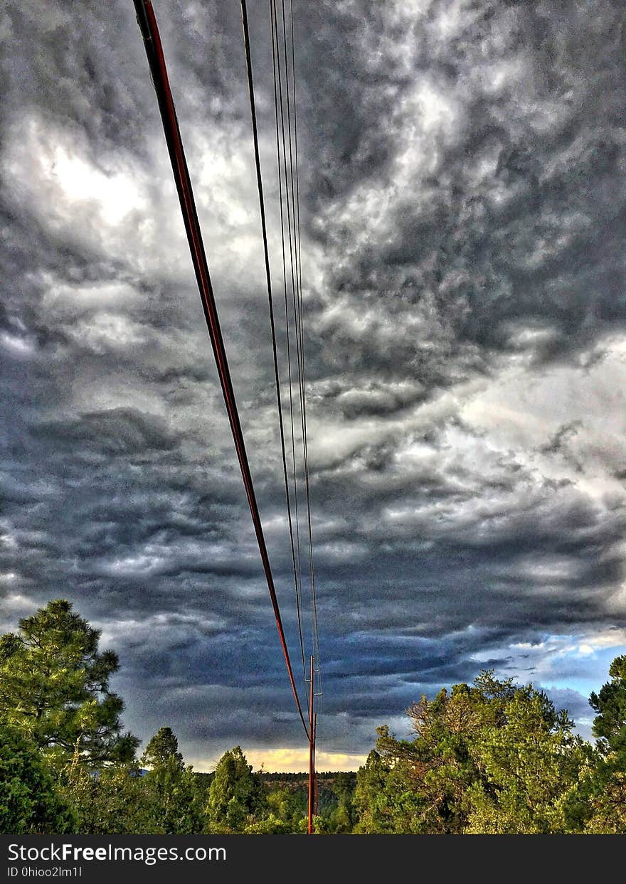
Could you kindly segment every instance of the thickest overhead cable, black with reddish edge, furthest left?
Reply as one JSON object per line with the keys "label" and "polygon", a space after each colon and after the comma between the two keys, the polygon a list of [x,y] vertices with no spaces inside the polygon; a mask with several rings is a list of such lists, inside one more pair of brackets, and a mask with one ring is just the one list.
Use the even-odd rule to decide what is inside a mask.
{"label": "thickest overhead cable, black with reddish edge, furthest left", "polygon": [[178,118],[176,117],[176,110],[174,109],[172,92],[167,76],[167,69],[165,67],[163,47],[161,45],[158,27],[156,26],[156,17],[149,0],[134,0],[134,7],[141,30],[141,36],[143,37],[146,56],[148,57],[148,64],[156,91],[156,99],[161,112],[165,141],[167,142],[167,149],[172,163],[172,172],[176,183],[176,189],[179,194],[180,209],[182,211],[191,258],[194,264],[195,278],[201,296],[202,310],[204,312],[211,347],[213,348],[213,354],[218,367],[219,381],[224,395],[228,420],[233,433],[233,441],[240,464],[241,476],[248,497],[250,514],[252,515],[252,522],[255,527],[256,541],[259,547],[259,552],[261,553],[263,570],[265,572],[268,590],[270,591],[276,625],[279,630],[280,644],[285,657],[289,681],[294,692],[295,703],[298,708],[300,719],[302,720],[302,727],[310,741],[312,735],[309,734],[309,728],[307,728],[304,714],[302,713],[302,705],[300,704],[298,691],[295,687],[294,673],[289,659],[285,632],[280,618],[279,602],[276,597],[274,581],[271,575],[270,559],[265,544],[265,537],[263,535],[263,524],[256,503],[256,495],[248,463],[248,454],[246,452],[243,432],[241,431],[239,411],[237,409],[237,403],[233,391],[233,382],[228,368],[224,340],[222,339],[222,332],[218,319],[218,310],[210,281],[209,266],[204,252],[202,232],[200,230],[200,223],[195,209],[191,179],[189,178],[187,160],[185,158],[183,144],[180,138],[179,123]]}

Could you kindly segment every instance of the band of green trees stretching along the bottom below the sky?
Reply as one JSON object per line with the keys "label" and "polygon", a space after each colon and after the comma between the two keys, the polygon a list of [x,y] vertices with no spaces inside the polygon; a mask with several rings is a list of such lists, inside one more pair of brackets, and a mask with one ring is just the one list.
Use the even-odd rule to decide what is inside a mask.
{"label": "band of green trees stretching along the bottom below the sky", "polygon": [[[0,833],[306,832],[306,779],[255,772],[240,746],[195,772],[163,727],[138,757],[99,639],[64,599],[0,638]],[[595,744],[492,671],[422,697],[412,738],[382,726],[356,773],[318,776],[316,832],[626,833],[626,657],[590,705]]]}

